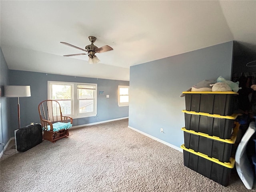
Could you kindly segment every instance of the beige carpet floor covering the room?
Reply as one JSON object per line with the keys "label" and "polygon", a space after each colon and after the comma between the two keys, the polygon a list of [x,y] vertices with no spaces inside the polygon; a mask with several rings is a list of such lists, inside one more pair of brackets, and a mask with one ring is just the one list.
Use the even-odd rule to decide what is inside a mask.
{"label": "beige carpet floor covering the room", "polygon": [[182,152],[127,126],[125,119],[70,130],[55,144],[43,141],[3,158],[0,191],[256,192],[236,170],[224,187],[185,167]]}

